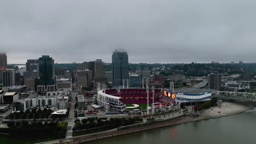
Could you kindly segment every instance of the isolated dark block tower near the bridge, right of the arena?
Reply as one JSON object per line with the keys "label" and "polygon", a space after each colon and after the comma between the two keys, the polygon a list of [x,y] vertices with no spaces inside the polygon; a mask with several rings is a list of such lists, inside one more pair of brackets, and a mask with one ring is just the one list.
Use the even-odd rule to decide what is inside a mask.
{"label": "isolated dark block tower near the bridge, right of the arena", "polygon": [[208,87],[211,89],[220,90],[222,87],[222,76],[219,74],[210,74],[210,81],[208,81]]}

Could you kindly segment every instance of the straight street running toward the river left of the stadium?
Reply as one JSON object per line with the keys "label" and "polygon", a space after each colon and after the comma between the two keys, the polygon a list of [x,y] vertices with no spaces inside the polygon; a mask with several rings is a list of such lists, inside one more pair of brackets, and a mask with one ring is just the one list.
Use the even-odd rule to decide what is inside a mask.
{"label": "straight street running toward the river left of the stadium", "polygon": [[72,95],[71,95],[71,104],[69,105],[69,115],[67,118],[68,127],[67,127],[67,133],[66,133],[66,139],[73,137],[73,127],[74,127],[74,105],[75,105],[75,96],[77,95],[77,92],[75,90],[75,86],[73,86],[72,89]]}

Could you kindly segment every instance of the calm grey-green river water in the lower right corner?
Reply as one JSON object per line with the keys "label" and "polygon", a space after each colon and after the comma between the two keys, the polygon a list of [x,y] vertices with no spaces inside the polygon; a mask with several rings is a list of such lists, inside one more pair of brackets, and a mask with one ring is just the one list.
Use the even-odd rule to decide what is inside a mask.
{"label": "calm grey-green river water in the lower right corner", "polygon": [[86,144],[256,143],[256,110],[228,117],[190,122],[158,129],[140,131]]}

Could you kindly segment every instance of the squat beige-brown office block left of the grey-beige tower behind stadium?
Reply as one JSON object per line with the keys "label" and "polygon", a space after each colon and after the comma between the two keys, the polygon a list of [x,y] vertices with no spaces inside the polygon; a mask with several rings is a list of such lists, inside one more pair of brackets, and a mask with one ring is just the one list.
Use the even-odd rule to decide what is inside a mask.
{"label": "squat beige-brown office block left of the grey-beige tower behind stadium", "polygon": [[82,86],[82,87],[92,86],[91,70],[78,70],[77,71],[77,86]]}

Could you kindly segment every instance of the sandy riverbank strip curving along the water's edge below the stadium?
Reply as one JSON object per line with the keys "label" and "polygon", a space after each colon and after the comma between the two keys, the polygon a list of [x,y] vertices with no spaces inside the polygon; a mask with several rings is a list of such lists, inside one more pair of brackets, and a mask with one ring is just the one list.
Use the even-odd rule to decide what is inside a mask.
{"label": "sandy riverbank strip curving along the water's edge below the stadium", "polygon": [[104,131],[101,133],[76,136],[69,140],[59,140],[51,143],[83,143],[88,141],[105,139],[108,137],[135,133],[143,130],[166,127],[170,125],[177,125],[177,124],[188,123],[188,122],[202,121],[203,119],[211,119],[211,118],[219,118],[219,117],[235,115],[236,113],[241,113],[250,109],[253,109],[253,106],[244,106],[236,103],[223,102],[220,107],[219,106],[211,107],[210,109],[203,111],[201,115],[196,118],[191,118],[183,115],[177,118],[168,119],[168,121],[166,121],[165,119],[164,121],[159,121],[159,123],[153,123],[150,125],[149,124],[138,125],[137,127],[131,127],[131,128],[122,129],[122,130]]}

